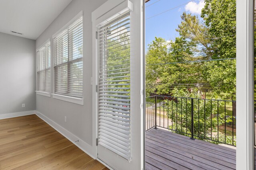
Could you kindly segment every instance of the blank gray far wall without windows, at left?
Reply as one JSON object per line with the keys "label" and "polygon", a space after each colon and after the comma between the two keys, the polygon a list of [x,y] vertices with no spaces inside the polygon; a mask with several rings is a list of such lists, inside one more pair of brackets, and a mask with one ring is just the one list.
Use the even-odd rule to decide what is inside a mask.
{"label": "blank gray far wall without windows, at left", "polygon": [[35,110],[35,45],[35,40],[0,33],[0,114]]}

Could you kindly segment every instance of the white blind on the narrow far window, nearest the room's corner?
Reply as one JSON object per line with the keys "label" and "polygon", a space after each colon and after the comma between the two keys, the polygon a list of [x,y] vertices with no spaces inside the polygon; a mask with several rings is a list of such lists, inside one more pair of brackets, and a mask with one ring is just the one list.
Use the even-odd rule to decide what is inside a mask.
{"label": "white blind on the narrow far window, nearest the room's corner", "polygon": [[50,93],[51,45],[50,41],[36,51],[37,55],[37,91]]}

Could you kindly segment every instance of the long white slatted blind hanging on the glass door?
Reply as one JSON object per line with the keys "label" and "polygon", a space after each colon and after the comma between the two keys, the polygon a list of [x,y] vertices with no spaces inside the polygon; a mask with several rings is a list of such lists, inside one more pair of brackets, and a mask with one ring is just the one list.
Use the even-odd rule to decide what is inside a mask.
{"label": "long white slatted blind hanging on the glass door", "polygon": [[99,145],[130,160],[130,12],[98,27]]}

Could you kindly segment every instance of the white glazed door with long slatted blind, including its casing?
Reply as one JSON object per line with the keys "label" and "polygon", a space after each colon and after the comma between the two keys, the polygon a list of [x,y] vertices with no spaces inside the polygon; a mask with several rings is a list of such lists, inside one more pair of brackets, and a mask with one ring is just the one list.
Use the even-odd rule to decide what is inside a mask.
{"label": "white glazed door with long slatted blind, including its casing", "polygon": [[142,1],[108,0],[92,13],[98,159],[143,167]]}

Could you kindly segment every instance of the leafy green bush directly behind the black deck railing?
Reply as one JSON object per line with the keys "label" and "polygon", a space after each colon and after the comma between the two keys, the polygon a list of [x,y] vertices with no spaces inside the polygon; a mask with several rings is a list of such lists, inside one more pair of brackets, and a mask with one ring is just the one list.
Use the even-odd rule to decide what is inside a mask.
{"label": "leafy green bush directly behind the black deck railing", "polygon": [[[222,100],[218,101],[218,95],[212,94],[211,99],[214,100],[200,99],[201,95],[202,94],[200,94],[196,89],[191,92],[186,89],[174,89],[174,96],[176,97],[169,98],[169,101],[165,100],[165,103],[168,105],[168,118],[170,119],[170,122],[172,122],[172,125],[169,125],[169,129],[177,131],[176,133],[182,135],[185,134],[187,136],[191,136],[191,106],[193,100],[194,137],[196,139],[206,138],[209,140],[224,142],[225,136],[222,133],[218,133],[218,127],[222,126],[225,121],[226,124],[231,124],[235,118],[232,116],[226,117],[225,115],[227,115],[227,113],[225,114],[224,111],[220,110],[220,108],[224,106],[224,102]],[[230,140],[230,138],[226,138],[227,144],[232,145],[232,142],[233,141]]]}

